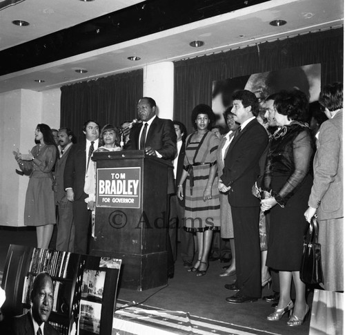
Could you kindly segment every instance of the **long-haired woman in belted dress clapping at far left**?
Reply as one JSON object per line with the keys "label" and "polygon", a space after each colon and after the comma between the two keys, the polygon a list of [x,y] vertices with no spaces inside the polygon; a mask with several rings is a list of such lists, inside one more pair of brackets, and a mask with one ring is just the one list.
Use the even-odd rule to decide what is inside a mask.
{"label": "long-haired woman in belted dress clapping at far left", "polygon": [[26,191],[24,224],[37,227],[37,247],[48,248],[53,225],[57,222],[52,169],[58,151],[52,131],[46,124],[37,125],[34,140],[37,144],[29,153],[23,154],[17,150],[15,158],[21,170],[30,175]]}

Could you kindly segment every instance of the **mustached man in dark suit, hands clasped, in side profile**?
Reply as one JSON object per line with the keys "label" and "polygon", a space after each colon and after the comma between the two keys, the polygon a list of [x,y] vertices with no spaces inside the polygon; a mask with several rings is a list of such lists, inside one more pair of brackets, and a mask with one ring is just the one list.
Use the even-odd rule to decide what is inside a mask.
{"label": "mustached man in dark suit, hands clasped, in side profile", "polygon": [[265,128],[256,119],[257,97],[248,90],[233,95],[235,122],[241,124],[229,145],[224,160],[219,191],[228,192],[233,214],[237,282],[226,288],[237,291],[228,303],[255,301],[261,297],[259,247],[259,200],[252,186],[260,174],[259,159],[268,144]]}

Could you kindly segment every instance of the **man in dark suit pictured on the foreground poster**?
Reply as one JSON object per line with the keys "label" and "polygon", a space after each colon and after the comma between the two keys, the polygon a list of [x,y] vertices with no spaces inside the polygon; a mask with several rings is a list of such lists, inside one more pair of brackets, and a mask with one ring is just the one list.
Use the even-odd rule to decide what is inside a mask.
{"label": "man in dark suit pictured on the foreground poster", "polygon": [[52,278],[47,272],[41,272],[34,278],[30,299],[32,307],[27,314],[14,317],[13,335],[59,335],[59,332],[48,323],[54,288]]}

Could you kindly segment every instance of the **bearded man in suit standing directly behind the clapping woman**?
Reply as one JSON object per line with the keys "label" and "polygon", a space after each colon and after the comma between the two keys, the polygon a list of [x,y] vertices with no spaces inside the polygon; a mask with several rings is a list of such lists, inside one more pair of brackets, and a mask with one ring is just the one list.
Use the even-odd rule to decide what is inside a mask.
{"label": "bearded man in suit standing directly behind the clapping woman", "polygon": [[59,160],[55,164],[55,182],[53,190],[55,204],[59,220],[57,223],[56,249],[59,251],[74,251],[75,225],[73,223],[73,205],[68,201],[65,187],[63,185],[63,172],[65,171],[67,157],[72,149],[74,135],[69,128],[60,128],[57,133],[59,139]]}

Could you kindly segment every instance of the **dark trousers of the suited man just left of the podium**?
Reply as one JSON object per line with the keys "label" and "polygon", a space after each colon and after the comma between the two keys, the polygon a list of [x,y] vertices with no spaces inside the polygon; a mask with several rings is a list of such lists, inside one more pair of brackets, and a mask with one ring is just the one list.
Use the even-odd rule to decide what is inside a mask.
{"label": "dark trousers of the suited man just left of the podium", "polygon": [[88,253],[91,211],[88,204],[80,198],[73,202],[73,220],[75,222],[75,253]]}

